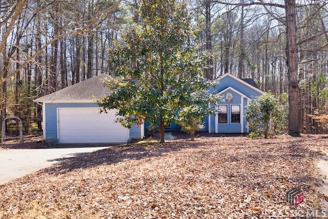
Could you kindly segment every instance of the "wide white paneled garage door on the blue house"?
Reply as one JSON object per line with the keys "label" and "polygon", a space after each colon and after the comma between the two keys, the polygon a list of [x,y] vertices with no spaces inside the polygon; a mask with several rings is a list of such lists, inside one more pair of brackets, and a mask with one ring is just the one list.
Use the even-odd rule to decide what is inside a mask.
{"label": "wide white paneled garage door on the blue house", "polygon": [[126,143],[129,129],[115,123],[115,111],[98,108],[58,108],[59,143]]}

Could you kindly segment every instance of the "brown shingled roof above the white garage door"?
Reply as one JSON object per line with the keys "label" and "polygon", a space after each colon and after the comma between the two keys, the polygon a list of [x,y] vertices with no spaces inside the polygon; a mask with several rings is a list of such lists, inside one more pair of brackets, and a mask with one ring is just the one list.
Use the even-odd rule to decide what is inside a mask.
{"label": "brown shingled roof above the white garage door", "polygon": [[93,101],[93,98],[100,98],[110,92],[104,86],[103,79],[110,79],[107,74],[98,76],[79,82],[75,85],[58,90],[46,96],[39,97],[34,102],[78,102],[78,101]]}

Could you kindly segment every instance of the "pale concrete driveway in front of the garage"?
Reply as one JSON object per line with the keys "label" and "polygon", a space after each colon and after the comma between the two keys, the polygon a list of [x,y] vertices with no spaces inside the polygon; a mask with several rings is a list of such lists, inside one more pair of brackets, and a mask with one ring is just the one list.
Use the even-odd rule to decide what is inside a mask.
{"label": "pale concrete driveway in front of the garage", "polygon": [[0,151],[0,185],[14,178],[38,171],[67,157],[105,149],[104,147],[70,147],[47,149],[9,149]]}

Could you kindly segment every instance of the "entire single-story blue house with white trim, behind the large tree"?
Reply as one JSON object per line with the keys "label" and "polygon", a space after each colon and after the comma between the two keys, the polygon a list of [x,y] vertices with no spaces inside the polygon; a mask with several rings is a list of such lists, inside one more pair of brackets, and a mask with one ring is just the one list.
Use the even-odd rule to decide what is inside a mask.
{"label": "entire single-story blue house with white trim, behind the large tree", "polygon": [[[102,80],[106,74],[87,79],[70,87],[37,98],[43,106],[43,134],[45,141],[55,143],[127,143],[132,138],[143,138],[144,124],[131,129],[115,123],[116,111],[99,113],[96,99],[109,94]],[[213,89],[213,88],[212,88]],[[216,92],[222,95],[217,106],[219,113],[205,118],[202,131],[210,133],[247,133],[245,106],[264,92],[253,79],[240,79],[229,73],[217,78]],[[213,90],[211,90],[213,91]],[[213,107],[213,106],[212,106]],[[167,130],[179,127],[171,124]]]}

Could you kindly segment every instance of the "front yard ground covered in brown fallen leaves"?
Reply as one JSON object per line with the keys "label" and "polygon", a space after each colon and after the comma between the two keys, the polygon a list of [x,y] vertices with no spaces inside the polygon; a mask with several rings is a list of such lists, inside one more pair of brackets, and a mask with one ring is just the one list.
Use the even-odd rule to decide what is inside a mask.
{"label": "front yard ground covered in brown fallen leaves", "polygon": [[[0,218],[277,218],[320,209],[322,135],[199,137],[68,158],[0,185]],[[293,187],[297,207],[285,202]]]}

